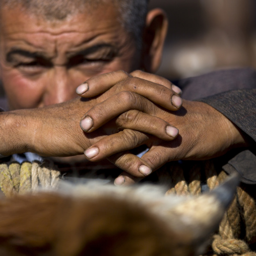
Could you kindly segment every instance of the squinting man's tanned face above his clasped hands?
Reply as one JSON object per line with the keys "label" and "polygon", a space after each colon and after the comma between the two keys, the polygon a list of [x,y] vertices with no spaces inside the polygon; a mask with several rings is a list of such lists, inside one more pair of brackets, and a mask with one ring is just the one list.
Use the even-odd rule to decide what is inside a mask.
{"label": "squinting man's tanned face above his clasped hands", "polygon": [[11,110],[67,101],[92,76],[140,68],[136,44],[110,5],[56,22],[19,8],[1,12],[0,78]]}

